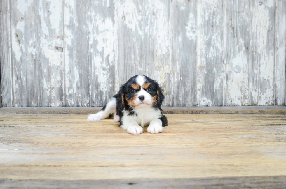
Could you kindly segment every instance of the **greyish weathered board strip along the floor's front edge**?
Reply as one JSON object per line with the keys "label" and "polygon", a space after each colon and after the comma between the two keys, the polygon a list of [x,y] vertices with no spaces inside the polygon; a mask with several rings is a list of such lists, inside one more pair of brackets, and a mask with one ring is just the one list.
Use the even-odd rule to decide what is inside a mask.
{"label": "greyish weathered board strip along the floor's front edge", "polygon": [[286,176],[249,176],[222,178],[191,178],[191,179],[104,179],[104,180],[37,180],[37,179],[0,179],[0,188],[181,188],[181,189],[282,189],[285,188]]}

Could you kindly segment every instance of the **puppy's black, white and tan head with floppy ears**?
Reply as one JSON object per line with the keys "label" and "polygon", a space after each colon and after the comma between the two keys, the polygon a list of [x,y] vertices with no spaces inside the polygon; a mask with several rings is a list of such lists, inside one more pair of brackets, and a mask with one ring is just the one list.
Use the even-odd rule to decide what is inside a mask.
{"label": "puppy's black, white and tan head with floppy ears", "polygon": [[[158,83],[144,75],[135,75],[121,86],[123,107],[132,108],[161,107],[164,95]],[[125,104],[126,103],[126,104]]]}

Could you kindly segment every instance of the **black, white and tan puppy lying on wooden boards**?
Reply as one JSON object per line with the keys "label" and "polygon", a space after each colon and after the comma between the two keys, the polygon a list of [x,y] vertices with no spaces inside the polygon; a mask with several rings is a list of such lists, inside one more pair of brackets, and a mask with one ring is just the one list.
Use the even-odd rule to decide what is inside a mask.
{"label": "black, white and tan puppy lying on wooden boards", "polygon": [[148,133],[161,133],[168,125],[162,114],[164,101],[162,89],[155,80],[144,75],[135,75],[114,95],[97,114],[90,114],[87,121],[100,121],[114,116],[115,122],[132,135],[143,133],[148,126]]}

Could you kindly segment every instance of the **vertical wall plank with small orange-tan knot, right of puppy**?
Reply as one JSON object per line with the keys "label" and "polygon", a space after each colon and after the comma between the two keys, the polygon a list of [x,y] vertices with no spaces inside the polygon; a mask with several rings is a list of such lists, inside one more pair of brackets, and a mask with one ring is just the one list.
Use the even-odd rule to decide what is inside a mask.
{"label": "vertical wall plank with small orange-tan knot, right of puppy", "polygon": [[197,105],[222,106],[224,64],[223,6],[220,0],[197,1]]}

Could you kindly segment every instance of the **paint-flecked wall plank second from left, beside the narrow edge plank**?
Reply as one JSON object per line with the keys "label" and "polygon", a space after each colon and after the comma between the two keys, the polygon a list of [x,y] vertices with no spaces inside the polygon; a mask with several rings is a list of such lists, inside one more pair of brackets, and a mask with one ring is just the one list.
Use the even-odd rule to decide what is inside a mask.
{"label": "paint-flecked wall plank second from left, beside the narrow edge plank", "polygon": [[[40,106],[37,1],[11,1],[13,106]],[[40,15],[39,15],[40,16]],[[29,50],[28,50],[29,49]]]}

